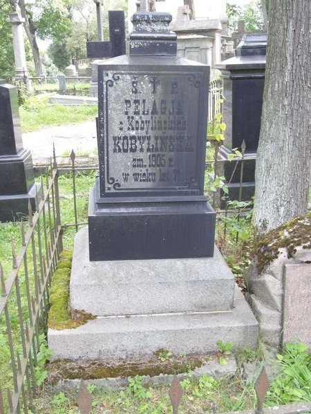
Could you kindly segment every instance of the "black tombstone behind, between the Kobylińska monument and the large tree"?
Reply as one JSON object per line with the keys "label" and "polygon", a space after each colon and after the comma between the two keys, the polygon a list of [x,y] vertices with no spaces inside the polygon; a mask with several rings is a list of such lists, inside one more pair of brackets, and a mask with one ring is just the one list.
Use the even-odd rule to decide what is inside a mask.
{"label": "black tombstone behind, between the Kobyli\u0144ska monument and the large tree", "polygon": [[[216,68],[223,78],[223,121],[227,125],[220,157],[227,159],[233,148],[241,148],[245,141],[243,184],[241,199],[250,200],[255,189],[255,166],[261,129],[263,85],[265,82],[265,50],[267,34],[245,34],[236,49],[236,56],[220,62]],[[248,159],[247,159],[248,158]],[[241,162],[225,163],[220,172],[229,184],[229,199],[238,199],[240,193]]]}

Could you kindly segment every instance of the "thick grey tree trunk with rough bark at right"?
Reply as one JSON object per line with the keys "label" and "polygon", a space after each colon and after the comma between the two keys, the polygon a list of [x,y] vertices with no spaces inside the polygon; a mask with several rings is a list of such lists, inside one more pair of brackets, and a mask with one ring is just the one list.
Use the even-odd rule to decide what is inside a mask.
{"label": "thick grey tree trunk with rough bark at right", "polygon": [[259,232],[303,215],[311,157],[310,7],[271,0],[254,224]]}

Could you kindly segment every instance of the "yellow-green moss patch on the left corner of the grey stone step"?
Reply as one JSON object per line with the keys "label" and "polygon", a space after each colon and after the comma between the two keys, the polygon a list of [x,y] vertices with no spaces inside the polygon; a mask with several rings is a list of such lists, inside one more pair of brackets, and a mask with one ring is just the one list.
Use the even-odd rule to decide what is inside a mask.
{"label": "yellow-green moss patch on the left corner of the grey stone step", "polygon": [[50,310],[48,313],[48,326],[52,329],[77,328],[85,324],[95,316],[84,311],[70,308],[69,304],[69,282],[72,253],[64,250],[52,277],[50,288]]}

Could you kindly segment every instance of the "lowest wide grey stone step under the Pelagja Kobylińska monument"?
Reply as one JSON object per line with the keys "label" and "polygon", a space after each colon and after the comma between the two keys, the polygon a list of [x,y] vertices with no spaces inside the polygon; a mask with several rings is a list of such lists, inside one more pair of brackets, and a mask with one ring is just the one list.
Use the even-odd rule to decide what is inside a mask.
{"label": "lowest wide grey stone step under the Pelagja Kobyli\u0144ska monument", "polygon": [[55,359],[130,359],[158,348],[172,353],[209,353],[216,341],[256,347],[258,324],[236,288],[232,311],[98,317],[75,329],[48,331]]}

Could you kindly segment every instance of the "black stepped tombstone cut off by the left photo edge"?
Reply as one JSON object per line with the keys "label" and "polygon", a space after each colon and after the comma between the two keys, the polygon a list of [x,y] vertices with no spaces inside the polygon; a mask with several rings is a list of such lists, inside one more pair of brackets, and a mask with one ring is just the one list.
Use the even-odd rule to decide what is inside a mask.
{"label": "black stepped tombstone cut off by the left photo edge", "polygon": [[23,148],[17,88],[0,83],[0,221],[28,216],[35,210],[40,186],[33,176],[32,156]]}

